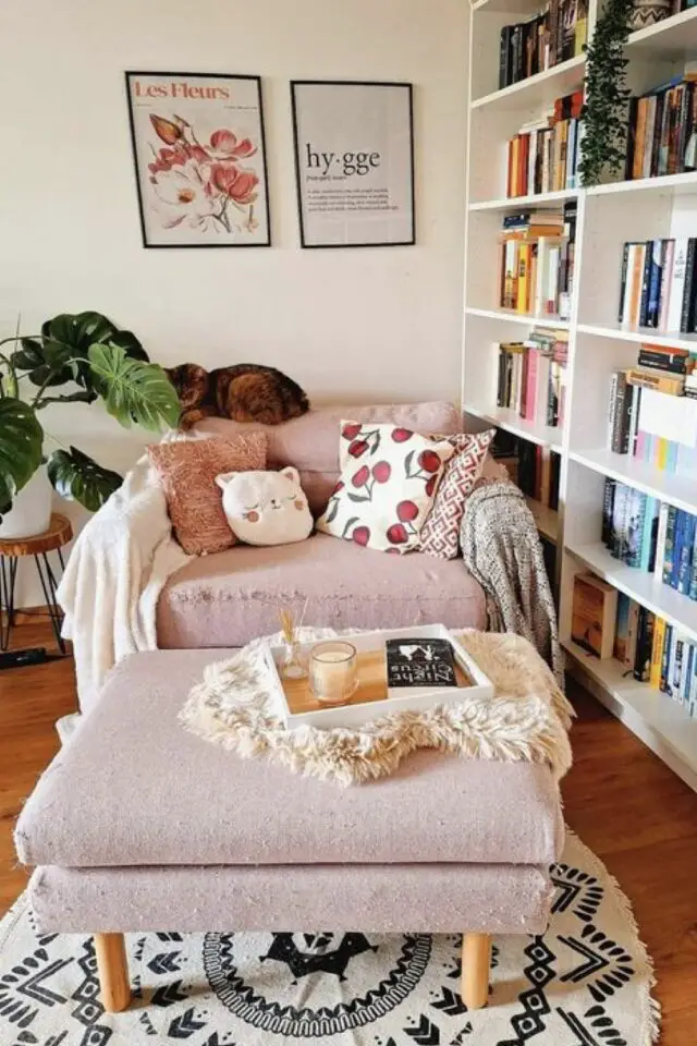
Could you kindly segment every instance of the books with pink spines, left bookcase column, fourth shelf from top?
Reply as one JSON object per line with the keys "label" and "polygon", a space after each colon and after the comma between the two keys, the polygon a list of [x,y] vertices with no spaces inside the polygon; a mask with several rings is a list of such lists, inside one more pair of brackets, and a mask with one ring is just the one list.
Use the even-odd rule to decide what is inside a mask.
{"label": "books with pink spines, left bookcase column, fourth shelf from top", "polygon": [[563,425],[568,332],[533,330],[526,341],[494,342],[497,406],[528,422]]}

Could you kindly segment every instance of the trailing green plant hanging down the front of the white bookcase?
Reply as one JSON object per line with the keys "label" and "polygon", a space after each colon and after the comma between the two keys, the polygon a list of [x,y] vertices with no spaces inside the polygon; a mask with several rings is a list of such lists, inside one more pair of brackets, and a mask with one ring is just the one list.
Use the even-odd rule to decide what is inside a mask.
{"label": "trailing green plant hanging down the front of the white bookcase", "polygon": [[629,36],[634,0],[607,0],[586,47],[586,104],[578,172],[583,185],[598,185],[617,173],[625,158]]}

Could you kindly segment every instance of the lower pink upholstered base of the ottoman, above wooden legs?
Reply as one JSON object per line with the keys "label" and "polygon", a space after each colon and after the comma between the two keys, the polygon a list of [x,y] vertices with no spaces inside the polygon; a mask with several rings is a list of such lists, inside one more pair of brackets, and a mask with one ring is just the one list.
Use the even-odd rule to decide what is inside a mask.
{"label": "lower pink upholstered base of the ottoman, above wooden legs", "polygon": [[45,934],[163,926],[184,934],[289,926],[541,934],[553,892],[547,868],[511,864],[46,867],[29,887],[37,928]]}

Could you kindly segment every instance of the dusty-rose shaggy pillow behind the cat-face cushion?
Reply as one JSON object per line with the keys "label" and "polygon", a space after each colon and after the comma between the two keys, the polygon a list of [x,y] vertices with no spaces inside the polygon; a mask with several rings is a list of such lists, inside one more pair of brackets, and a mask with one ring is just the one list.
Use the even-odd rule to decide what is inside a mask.
{"label": "dusty-rose shaggy pillow behind the cat-face cushion", "polygon": [[236,543],[216,486],[221,472],[266,469],[266,435],[185,439],[148,447],[167,497],[174,536],[189,556],[220,552]]}

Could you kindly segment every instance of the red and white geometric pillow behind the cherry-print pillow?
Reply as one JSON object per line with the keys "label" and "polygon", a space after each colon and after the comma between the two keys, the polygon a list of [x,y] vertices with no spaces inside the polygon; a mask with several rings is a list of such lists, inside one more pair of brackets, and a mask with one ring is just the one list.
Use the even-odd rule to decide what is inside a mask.
{"label": "red and white geometric pillow behind the cherry-print pillow", "polygon": [[455,449],[445,465],[433,508],[421,527],[418,548],[438,559],[455,559],[460,551],[460,526],[465,501],[477,482],[487,457],[494,429],[470,436],[458,433],[444,437]]}

